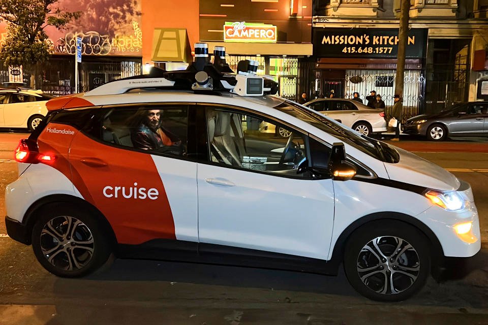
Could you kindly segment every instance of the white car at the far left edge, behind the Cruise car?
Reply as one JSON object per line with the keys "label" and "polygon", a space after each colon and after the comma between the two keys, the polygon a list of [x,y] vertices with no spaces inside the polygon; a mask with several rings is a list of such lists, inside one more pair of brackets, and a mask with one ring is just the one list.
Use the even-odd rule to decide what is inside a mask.
{"label": "white car at the far left edge, behind the Cruise car", "polygon": [[47,114],[52,96],[42,90],[0,89],[0,127],[28,128],[33,131]]}

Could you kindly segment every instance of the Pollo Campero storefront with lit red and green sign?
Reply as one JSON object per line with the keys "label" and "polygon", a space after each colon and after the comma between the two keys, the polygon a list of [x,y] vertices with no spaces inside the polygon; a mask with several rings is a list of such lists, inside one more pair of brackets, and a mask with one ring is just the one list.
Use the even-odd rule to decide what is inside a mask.
{"label": "Pollo Campero storefront with lit red and green sign", "polygon": [[[299,4],[299,5],[298,5]],[[298,100],[306,91],[309,58],[313,54],[312,0],[290,2],[200,1],[200,41],[226,48],[226,61],[236,71],[238,61],[259,62],[258,74],[279,83],[279,94]]]}

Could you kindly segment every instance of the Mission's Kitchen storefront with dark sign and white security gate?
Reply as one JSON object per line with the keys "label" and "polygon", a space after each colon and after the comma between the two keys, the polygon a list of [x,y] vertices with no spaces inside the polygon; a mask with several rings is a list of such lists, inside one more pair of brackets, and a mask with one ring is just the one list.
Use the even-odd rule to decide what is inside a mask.
{"label": "Mission's Kitchen storefront with dark sign and white security gate", "polygon": [[[410,29],[406,48],[404,107],[422,111],[425,96],[426,29]],[[316,97],[365,99],[371,90],[393,105],[398,28],[314,28],[315,69],[309,84]]]}

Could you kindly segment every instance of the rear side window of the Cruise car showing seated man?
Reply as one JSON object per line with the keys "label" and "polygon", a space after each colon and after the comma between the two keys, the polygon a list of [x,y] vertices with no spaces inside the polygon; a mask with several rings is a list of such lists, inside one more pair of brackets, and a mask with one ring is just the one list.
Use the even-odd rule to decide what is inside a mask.
{"label": "rear side window of the Cruise car showing seated man", "polygon": [[103,118],[101,138],[118,146],[182,156],[187,125],[188,106],[114,109]]}

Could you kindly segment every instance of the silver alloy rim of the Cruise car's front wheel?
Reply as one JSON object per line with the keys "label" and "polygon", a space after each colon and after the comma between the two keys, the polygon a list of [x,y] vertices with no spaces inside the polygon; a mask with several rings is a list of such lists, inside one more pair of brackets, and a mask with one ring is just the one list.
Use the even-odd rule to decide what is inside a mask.
{"label": "silver alloy rim of the Cruise car's front wheel", "polygon": [[394,236],[377,237],[359,252],[356,270],[369,289],[382,295],[395,295],[415,283],[420,259],[406,240]]}

